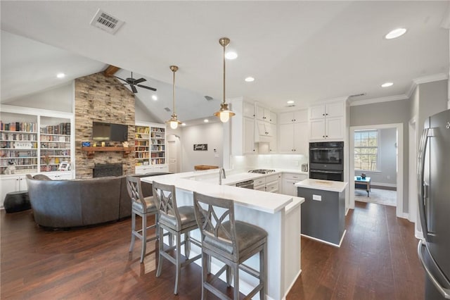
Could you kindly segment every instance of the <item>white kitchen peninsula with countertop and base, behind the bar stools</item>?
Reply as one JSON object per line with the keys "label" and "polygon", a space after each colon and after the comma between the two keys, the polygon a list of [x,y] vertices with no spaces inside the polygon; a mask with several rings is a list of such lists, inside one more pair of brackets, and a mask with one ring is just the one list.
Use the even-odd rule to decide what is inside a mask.
{"label": "white kitchen peninsula with countertop and base, behind the bar stools", "polygon": [[[233,184],[235,181],[262,175],[227,173],[229,173],[229,176],[224,183],[229,185],[218,184],[218,170],[143,177],[141,180],[150,183],[156,181],[166,185],[175,185],[178,206],[193,205],[193,192],[233,200],[236,220],[257,225],[268,232],[267,298],[283,299],[301,272],[300,205],[304,199],[297,196],[236,187]],[[200,232],[196,231],[195,234],[200,237]],[[193,254],[200,253],[200,249],[193,246],[191,252]],[[201,261],[196,261],[196,263],[201,263]],[[259,258],[252,257],[246,263],[257,269]],[[214,265],[213,261],[213,270],[217,267],[218,265]],[[257,285],[257,282],[253,277],[246,273],[241,275],[241,292],[247,294],[255,285]]]}

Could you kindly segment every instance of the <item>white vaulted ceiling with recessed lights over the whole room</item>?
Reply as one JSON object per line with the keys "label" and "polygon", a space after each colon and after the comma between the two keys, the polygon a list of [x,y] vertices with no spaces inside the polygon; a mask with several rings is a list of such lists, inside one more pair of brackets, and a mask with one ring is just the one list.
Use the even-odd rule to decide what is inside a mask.
{"label": "white vaulted ceiling with recessed lights over the whole room", "polygon": [[[115,35],[89,24],[98,8],[124,21]],[[238,53],[226,63],[227,98],[276,111],[288,100],[406,99],[415,79],[449,75],[448,9],[449,1],[1,1],[1,102],[60,85],[57,72],[72,80],[110,64],[158,89],[158,101],[146,89],[136,96],[165,120],[169,65],[178,65],[179,119],[209,116],[223,91],[220,37]],[[397,27],[408,31],[384,38]]]}

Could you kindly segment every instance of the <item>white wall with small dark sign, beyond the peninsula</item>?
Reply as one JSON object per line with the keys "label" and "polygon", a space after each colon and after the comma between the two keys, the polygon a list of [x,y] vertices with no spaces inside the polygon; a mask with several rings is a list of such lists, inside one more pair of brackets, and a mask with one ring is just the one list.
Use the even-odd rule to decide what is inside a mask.
{"label": "white wall with small dark sign, beyond the peninsula", "polygon": [[[195,165],[222,166],[223,159],[222,123],[193,125],[181,129],[181,172],[193,171]],[[193,144],[207,144],[207,151],[193,151]],[[214,149],[216,151],[214,152]]]}

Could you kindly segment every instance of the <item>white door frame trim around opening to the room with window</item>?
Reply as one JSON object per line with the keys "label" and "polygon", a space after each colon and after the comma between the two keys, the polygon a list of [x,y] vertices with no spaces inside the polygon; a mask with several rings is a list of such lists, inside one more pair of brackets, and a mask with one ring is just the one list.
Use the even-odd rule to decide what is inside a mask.
{"label": "white door frame trim around opening to the room with window", "polygon": [[383,130],[388,128],[395,128],[397,130],[396,135],[396,146],[397,146],[397,192],[396,192],[396,203],[397,203],[397,217],[405,218],[405,214],[403,213],[403,124],[395,123],[395,124],[381,124],[381,125],[365,125],[365,126],[353,126],[350,127],[350,139],[349,139],[349,198],[350,205],[349,208],[354,208],[355,202],[355,185],[353,182],[353,177],[355,174],[355,160],[354,160],[354,152],[355,152],[355,143],[354,143],[354,134],[359,130]]}

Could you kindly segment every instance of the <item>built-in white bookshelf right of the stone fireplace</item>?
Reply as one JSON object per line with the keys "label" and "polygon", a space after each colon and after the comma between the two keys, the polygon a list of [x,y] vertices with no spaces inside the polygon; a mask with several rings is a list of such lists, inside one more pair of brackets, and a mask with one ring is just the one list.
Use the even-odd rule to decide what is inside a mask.
{"label": "built-in white bookshelf right of the stone fireplace", "polygon": [[165,125],[136,125],[134,149],[136,166],[166,164]]}

